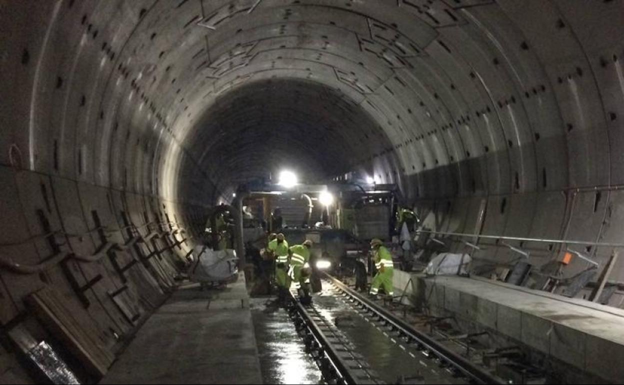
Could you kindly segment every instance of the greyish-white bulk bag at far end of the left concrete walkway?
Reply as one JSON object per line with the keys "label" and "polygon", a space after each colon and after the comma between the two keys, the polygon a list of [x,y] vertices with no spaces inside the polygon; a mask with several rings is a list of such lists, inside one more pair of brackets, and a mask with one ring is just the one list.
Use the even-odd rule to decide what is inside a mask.
{"label": "greyish-white bulk bag at far end of the left concrete walkway", "polygon": [[195,246],[195,263],[188,271],[193,282],[222,282],[238,275],[236,251],[226,249],[214,251],[205,246]]}

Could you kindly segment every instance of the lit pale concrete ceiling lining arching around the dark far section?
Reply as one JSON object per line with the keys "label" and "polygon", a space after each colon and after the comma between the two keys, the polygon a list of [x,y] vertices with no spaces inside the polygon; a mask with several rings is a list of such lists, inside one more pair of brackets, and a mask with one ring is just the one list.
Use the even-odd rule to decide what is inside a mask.
{"label": "lit pale concrete ceiling lining arching around the dark far section", "polygon": [[[529,4],[540,9],[536,16],[527,11],[531,6],[514,2],[438,1],[419,8],[404,1],[261,1],[249,12],[253,3],[14,9],[16,22],[20,16],[55,18],[32,30],[46,31],[45,40],[11,44],[16,59],[19,47],[22,54],[40,53],[21,64],[23,78],[14,79],[36,79],[23,92],[31,103],[9,109],[15,114],[7,110],[12,123],[27,109],[29,135],[20,129],[24,122],[15,122],[7,144],[16,144],[31,170],[211,205],[227,199],[224,190],[233,187],[215,188],[222,175],[211,177],[199,162],[205,154],[190,144],[198,140],[194,133],[205,111],[245,84],[305,79],[339,92],[378,126],[361,129],[366,155],[348,166],[397,183],[410,202],[424,207],[452,198],[446,217],[460,222],[452,230],[470,223],[476,201],[470,197],[490,197],[491,206],[514,201],[510,210],[525,207],[532,218],[490,210],[484,232],[507,227],[507,235],[561,238],[569,231],[563,218],[557,225],[545,222],[562,217],[570,198],[555,192],[621,182],[621,161],[612,150],[618,133],[608,130],[618,124],[612,117],[621,94],[619,42],[609,32],[617,31],[622,14],[613,4],[590,14],[580,5]],[[587,34],[583,25],[598,20],[603,33]],[[552,42],[540,36],[536,21]],[[67,39],[70,32],[60,26],[75,26],[77,39]],[[204,132],[208,137],[210,130]],[[595,231],[576,238],[600,238],[600,213],[604,217],[608,202],[619,198],[606,195],[591,216],[597,219],[590,219]],[[568,228],[579,226],[585,227],[573,218]]]}

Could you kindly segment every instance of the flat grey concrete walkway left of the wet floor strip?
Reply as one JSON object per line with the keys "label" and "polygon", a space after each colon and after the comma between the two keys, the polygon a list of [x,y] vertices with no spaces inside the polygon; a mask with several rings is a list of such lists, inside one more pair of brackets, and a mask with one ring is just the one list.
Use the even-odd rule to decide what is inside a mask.
{"label": "flat grey concrete walkway left of the wet floor strip", "polygon": [[181,286],[101,384],[261,384],[245,276],[225,290]]}

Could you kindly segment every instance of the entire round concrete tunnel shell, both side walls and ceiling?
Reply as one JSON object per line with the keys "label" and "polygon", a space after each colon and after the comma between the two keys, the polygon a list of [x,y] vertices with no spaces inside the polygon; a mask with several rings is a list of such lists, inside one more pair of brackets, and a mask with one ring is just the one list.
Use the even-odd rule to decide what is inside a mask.
{"label": "entire round concrete tunnel shell, both side walls and ceiling", "polygon": [[[2,382],[69,381],[42,356],[86,383],[127,361],[212,210],[284,168],[395,186],[479,271],[595,265],[583,287],[610,299],[565,306],[624,324],[621,1],[24,0],[0,19]],[[553,348],[578,317],[527,338],[583,351],[562,381],[621,381],[622,334]]]}

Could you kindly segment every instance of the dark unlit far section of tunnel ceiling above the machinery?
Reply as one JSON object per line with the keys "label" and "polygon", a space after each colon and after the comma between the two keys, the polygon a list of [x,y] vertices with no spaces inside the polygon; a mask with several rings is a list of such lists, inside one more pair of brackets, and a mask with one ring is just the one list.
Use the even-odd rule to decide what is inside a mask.
{"label": "dark unlit far section of tunnel ceiling above the machinery", "polygon": [[[196,126],[185,139],[190,152],[223,187],[268,179],[282,168],[323,182],[388,143],[373,118],[339,90],[301,79],[241,85],[216,98]],[[366,140],[373,132],[376,140]]]}

